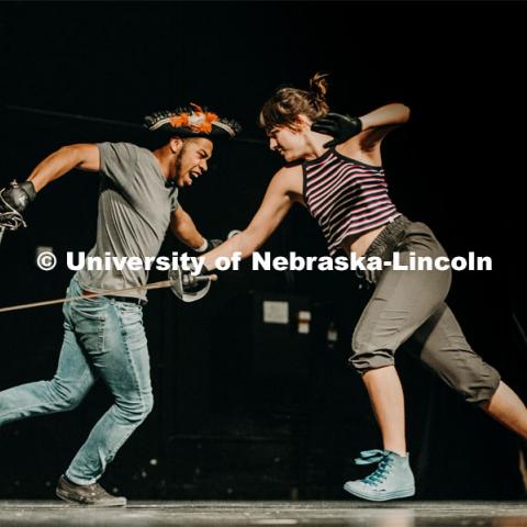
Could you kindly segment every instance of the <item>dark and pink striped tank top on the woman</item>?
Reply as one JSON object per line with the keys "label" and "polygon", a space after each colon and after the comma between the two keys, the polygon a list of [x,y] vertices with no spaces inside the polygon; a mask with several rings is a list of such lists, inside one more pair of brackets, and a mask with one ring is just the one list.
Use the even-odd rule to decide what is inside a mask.
{"label": "dark and pink striped tank top on the woman", "polygon": [[382,167],[329,148],[302,168],[304,203],[322,227],[332,256],[346,236],[367,233],[401,215],[388,195]]}

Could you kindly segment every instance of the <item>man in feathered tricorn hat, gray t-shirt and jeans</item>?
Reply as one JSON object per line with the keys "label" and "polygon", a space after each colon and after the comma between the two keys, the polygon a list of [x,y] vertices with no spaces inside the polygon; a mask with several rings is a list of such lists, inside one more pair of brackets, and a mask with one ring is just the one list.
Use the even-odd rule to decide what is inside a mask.
{"label": "man in feathered tricorn hat, gray t-shirt and jeans", "polygon": [[[235,136],[237,123],[199,106],[145,117],[164,137],[150,152],[127,143],[65,146],[45,158],[20,186],[0,191],[0,224],[23,224],[22,213],[37,192],[69,170],[100,173],[97,240],[88,256],[156,257],[166,231],[197,251],[215,244],[204,238],[178,203],[177,187],[188,187],[208,169],[213,143]],[[147,271],[102,269],[78,271],[67,296],[87,296],[64,305],[65,335],[55,377],[0,392],[0,425],[24,417],[76,407],[98,378],[114,403],[91,430],[56,494],[72,503],[123,506],[124,497],[106,493],[97,481],[130,435],[153,407],[141,288]],[[127,291],[119,292],[127,289]],[[116,291],[112,294],[112,291]],[[89,296],[104,293],[103,296]]]}

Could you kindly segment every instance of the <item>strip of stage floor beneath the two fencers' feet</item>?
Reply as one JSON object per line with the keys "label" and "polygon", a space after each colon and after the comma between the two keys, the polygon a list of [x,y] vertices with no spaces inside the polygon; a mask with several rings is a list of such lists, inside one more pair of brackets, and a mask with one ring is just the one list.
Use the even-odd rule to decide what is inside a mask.
{"label": "strip of stage floor beneath the two fencers' feet", "polygon": [[23,525],[527,527],[527,502],[131,502],[111,509],[0,501],[0,526]]}

